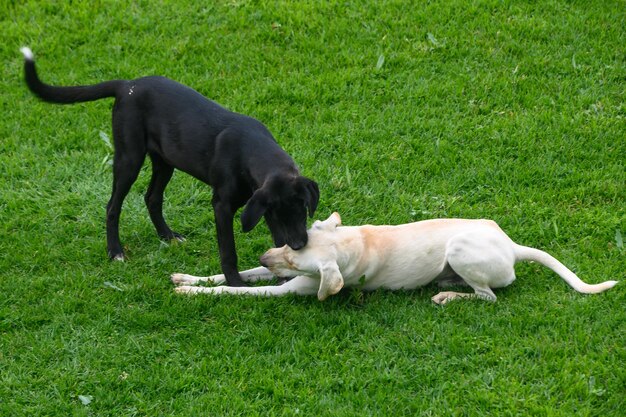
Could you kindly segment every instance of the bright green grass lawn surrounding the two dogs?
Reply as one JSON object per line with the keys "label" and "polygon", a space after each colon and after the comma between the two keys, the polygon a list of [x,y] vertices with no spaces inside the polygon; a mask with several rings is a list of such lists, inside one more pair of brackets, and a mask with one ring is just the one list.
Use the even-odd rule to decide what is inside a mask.
{"label": "bright green grass lawn surrounding the two dogs", "polygon": [[[202,4],[206,3],[206,4]],[[520,264],[498,302],[437,292],[182,297],[219,272],[211,192],[177,173],[156,238],[106,259],[111,101],[23,82],[160,74],[262,120],[345,224],[492,218],[587,282],[624,280],[623,1],[4,2],[0,415],[545,415],[626,409],[626,292]],[[240,230],[239,223],[236,229]],[[621,237],[620,237],[621,236]],[[240,267],[271,244],[237,234]]]}

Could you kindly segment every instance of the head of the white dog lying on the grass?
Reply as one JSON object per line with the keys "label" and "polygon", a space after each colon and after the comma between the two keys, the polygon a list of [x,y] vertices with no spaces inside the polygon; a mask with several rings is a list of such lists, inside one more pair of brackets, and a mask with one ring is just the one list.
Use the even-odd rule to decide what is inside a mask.
{"label": "head of the white dog lying on the grass", "polygon": [[320,301],[336,294],[343,287],[343,277],[337,265],[337,226],[341,217],[335,212],[324,221],[317,220],[308,230],[308,243],[300,250],[285,245],[270,249],[261,256],[261,265],[279,277],[291,278],[298,275],[319,277]]}

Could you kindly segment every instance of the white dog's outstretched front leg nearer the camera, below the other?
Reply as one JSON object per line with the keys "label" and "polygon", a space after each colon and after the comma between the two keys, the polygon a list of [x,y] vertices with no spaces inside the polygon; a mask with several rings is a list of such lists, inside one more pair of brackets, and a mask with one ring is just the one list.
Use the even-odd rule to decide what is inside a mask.
{"label": "white dog's outstretched front leg nearer the camera, below the other", "polygon": [[242,294],[263,297],[278,297],[286,294],[315,295],[319,289],[319,279],[298,276],[283,285],[266,285],[262,287],[194,287],[181,286],[175,289],[179,294]]}

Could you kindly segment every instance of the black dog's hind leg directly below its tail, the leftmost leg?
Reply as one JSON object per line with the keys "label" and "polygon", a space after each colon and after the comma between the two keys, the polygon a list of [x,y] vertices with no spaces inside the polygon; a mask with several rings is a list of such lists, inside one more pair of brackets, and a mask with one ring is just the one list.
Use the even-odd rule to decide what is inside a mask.
{"label": "black dog's hind leg directly below its tail, the leftmost leg", "polygon": [[122,203],[139,175],[146,157],[146,147],[143,131],[137,127],[136,123],[129,122],[124,125],[124,120],[116,117],[115,112],[113,113],[113,140],[115,144],[113,192],[107,204],[106,217],[107,252],[109,258],[121,261],[124,260],[124,250],[119,234]]}

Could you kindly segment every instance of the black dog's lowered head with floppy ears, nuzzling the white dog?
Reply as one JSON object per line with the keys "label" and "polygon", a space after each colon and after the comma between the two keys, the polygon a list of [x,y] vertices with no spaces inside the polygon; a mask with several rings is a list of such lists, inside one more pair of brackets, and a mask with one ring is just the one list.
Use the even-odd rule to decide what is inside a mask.
{"label": "black dog's lowered head with floppy ears, nuzzling the white dog", "polygon": [[265,216],[276,247],[289,245],[298,250],[307,243],[306,215],[313,217],[320,192],[315,181],[305,177],[268,179],[254,192],[243,213],[241,225],[249,232]]}

